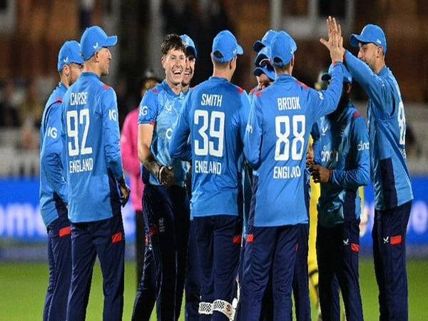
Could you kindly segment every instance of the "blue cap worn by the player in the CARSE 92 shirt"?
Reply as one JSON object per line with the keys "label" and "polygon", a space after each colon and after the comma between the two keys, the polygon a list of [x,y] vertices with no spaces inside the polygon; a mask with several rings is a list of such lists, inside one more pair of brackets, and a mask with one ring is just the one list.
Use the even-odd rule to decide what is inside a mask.
{"label": "blue cap worn by the player in the CARSE 92 shirt", "polygon": [[81,37],[83,59],[88,60],[100,49],[114,46],[117,42],[117,36],[107,36],[99,26],[86,28]]}

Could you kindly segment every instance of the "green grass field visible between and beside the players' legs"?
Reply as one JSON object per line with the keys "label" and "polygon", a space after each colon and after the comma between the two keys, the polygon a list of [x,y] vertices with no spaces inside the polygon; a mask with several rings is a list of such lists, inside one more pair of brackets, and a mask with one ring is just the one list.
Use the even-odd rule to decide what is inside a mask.
{"label": "green grass field visible between and beside the players' legs", "polygon": [[[135,265],[126,263],[123,320],[131,320],[136,292]],[[409,260],[409,320],[428,320],[428,260]],[[0,263],[0,320],[41,320],[48,267],[43,263]],[[360,285],[365,320],[378,320],[377,285],[372,260],[362,259]],[[103,290],[98,263],[93,273],[86,320],[102,320]],[[152,316],[152,320],[155,318]],[[183,313],[180,320],[184,320]],[[315,320],[315,318],[312,318]]]}

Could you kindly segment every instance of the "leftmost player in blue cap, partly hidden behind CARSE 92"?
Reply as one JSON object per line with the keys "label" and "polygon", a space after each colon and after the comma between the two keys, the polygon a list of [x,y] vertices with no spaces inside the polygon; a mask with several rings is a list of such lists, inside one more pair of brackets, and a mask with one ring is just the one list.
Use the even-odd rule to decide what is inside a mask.
{"label": "leftmost player in blue cap, partly hidden behind CARSE 92", "polygon": [[49,97],[40,126],[40,213],[48,233],[49,286],[44,321],[66,320],[71,280],[71,228],[61,141],[62,99],[81,75],[83,59],[77,41],[66,41],[58,53],[60,82]]}

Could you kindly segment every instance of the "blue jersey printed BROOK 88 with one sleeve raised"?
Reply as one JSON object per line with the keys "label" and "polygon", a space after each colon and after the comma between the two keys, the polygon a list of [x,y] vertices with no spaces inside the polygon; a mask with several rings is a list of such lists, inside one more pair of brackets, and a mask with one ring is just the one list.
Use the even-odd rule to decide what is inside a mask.
{"label": "blue jersey printed BROOK 88 with one sleeve raised", "polygon": [[307,223],[305,166],[310,128],[335,111],[342,93],[343,65],[337,63],[326,91],[315,91],[289,75],[259,91],[245,133],[245,158],[253,178],[249,224],[255,227]]}

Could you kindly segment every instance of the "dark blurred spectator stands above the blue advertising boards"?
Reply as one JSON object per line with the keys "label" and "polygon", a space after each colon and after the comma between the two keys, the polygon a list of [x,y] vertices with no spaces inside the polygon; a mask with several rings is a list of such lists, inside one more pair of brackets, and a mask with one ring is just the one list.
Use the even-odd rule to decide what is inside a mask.
{"label": "dark blurred spectator stands above the blue advertising boards", "polygon": [[[198,49],[192,85],[212,72],[210,49],[229,29],[243,45],[233,81],[255,86],[253,42],[267,29],[285,29],[297,41],[294,76],[314,86],[328,68],[319,43],[325,16],[340,20],[348,49],[351,33],[367,23],[387,34],[387,65],[399,81],[407,118],[409,168],[428,173],[428,6],[424,0],[0,0],[0,176],[39,174],[39,127],[44,105],[59,80],[58,49],[79,40],[93,24],[118,35],[110,75],[103,79],[118,97],[119,120],[138,106],[143,79],[163,78],[160,43],[165,34],[188,34]],[[355,49],[352,49],[356,53]],[[364,110],[366,97],[353,91]],[[365,114],[365,111],[363,111]],[[426,143],[427,142],[427,143]]]}

